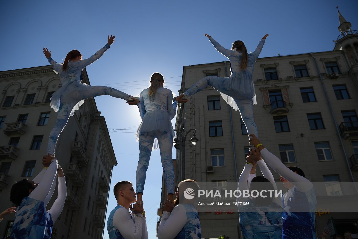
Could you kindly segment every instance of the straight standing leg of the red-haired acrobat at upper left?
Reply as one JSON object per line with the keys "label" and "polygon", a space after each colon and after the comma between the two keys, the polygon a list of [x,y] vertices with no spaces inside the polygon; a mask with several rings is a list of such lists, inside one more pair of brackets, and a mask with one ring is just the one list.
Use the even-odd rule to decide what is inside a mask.
{"label": "straight standing leg of the red-haired acrobat at upper left", "polygon": [[69,118],[69,114],[71,113],[73,107],[74,107],[73,103],[60,104],[60,107],[58,108],[58,114],[57,114],[55,126],[51,130],[48,139],[48,144],[47,144],[48,154],[55,155],[55,147],[56,147],[56,142],[58,140],[58,136],[66,126]]}

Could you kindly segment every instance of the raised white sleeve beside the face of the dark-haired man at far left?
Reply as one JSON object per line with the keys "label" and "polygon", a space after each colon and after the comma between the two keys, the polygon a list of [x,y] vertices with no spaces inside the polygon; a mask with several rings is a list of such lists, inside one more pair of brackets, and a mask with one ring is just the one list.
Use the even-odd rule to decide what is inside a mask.
{"label": "raised white sleeve beside the face of the dark-haired man at far left", "polygon": [[39,185],[30,193],[29,197],[39,201],[45,201],[47,195],[50,192],[53,181],[57,175],[57,159],[51,160],[50,166],[46,169],[41,180],[38,182]]}

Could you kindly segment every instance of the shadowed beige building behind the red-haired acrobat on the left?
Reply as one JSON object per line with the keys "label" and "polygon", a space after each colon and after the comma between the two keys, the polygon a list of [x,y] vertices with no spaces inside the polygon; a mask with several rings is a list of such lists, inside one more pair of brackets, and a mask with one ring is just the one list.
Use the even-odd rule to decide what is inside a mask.
{"label": "shadowed beige building behind the red-haired acrobat on the left", "polygon": [[[86,69],[83,80],[89,84]],[[42,170],[48,136],[57,112],[50,95],[61,87],[52,66],[0,72],[0,211],[15,181],[32,180]],[[59,136],[56,157],[64,169],[67,198],[53,227],[53,239],[102,238],[112,167],[117,164],[105,118],[93,98],[86,99]],[[49,209],[57,197],[57,187]],[[10,235],[14,215],[0,224]]]}

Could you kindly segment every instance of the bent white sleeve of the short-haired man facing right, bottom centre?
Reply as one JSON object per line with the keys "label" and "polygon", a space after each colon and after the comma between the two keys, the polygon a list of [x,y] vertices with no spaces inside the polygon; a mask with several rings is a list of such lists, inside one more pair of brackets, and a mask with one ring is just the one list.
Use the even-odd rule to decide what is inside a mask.
{"label": "bent white sleeve of the short-haired man facing right, bottom centre", "polygon": [[141,239],[143,233],[143,215],[135,214],[134,222],[126,208],[118,208],[113,215],[113,226],[126,239]]}

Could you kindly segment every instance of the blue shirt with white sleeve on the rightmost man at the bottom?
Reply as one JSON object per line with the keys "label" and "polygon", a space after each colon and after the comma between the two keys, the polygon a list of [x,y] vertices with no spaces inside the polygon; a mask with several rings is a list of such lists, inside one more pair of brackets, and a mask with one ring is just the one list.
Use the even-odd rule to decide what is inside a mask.
{"label": "blue shirt with white sleeve on the rightmost man at the bottom", "polygon": [[290,188],[282,198],[282,207],[284,208],[284,212],[282,212],[284,221],[282,239],[315,239],[317,201],[313,184],[305,177],[287,168],[279,158],[271,154],[266,148],[261,150],[261,155],[276,173],[294,184],[294,187]]}

